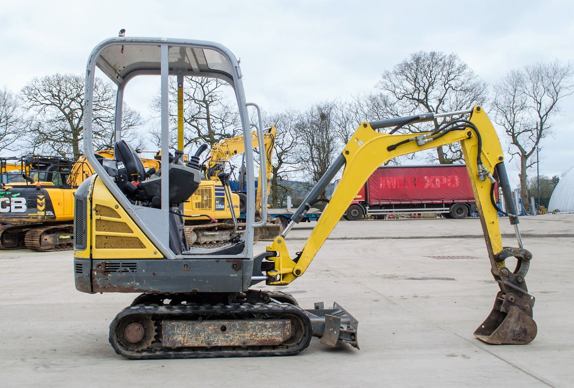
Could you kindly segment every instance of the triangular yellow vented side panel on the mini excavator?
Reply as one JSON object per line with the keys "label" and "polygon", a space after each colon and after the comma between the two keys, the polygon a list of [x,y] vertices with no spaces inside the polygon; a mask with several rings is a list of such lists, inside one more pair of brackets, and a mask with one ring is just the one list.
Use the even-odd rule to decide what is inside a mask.
{"label": "triangular yellow vented side panel on the mini excavator", "polygon": [[163,258],[98,177],[89,228],[92,259]]}

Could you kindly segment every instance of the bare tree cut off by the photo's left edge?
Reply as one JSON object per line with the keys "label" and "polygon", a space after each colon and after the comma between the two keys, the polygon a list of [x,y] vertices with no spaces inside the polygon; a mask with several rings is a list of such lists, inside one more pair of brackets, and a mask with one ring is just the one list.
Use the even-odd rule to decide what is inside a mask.
{"label": "bare tree cut off by the photo's left edge", "polygon": [[24,133],[24,115],[18,98],[7,87],[0,89],[0,152],[14,150],[15,141]]}

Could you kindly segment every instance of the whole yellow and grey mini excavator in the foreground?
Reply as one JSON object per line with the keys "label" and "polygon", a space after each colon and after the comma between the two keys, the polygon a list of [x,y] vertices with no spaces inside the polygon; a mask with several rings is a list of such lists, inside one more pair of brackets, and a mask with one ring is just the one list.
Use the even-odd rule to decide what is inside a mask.
{"label": "whole yellow and grey mini excavator in the foreground", "polygon": [[[118,179],[95,164],[91,101],[96,66],[118,87],[115,135],[117,146],[127,149],[119,124],[124,88],[136,75],[160,75],[161,176],[146,177],[133,152],[122,153],[117,162],[125,166],[130,184],[118,184]],[[245,136],[247,222],[242,236],[230,238],[221,247],[190,248],[183,233],[181,203],[199,186],[199,154],[203,149],[188,164],[177,157],[168,162],[170,75],[216,77],[235,90]],[[317,303],[315,309],[304,310],[289,294],[250,287],[262,281],[270,286],[288,285],[302,276],[360,186],[383,162],[455,142],[463,150],[491,272],[500,286],[494,308],[475,336],[491,344],[526,344],[536,336],[534,298],[525,281],[532,254],[522,247],[502,148],[480,106],[449,114],[363,122],[282,235],[265,252],[255,254],[253,231],[262,223],[255,222],[254,161],[247,107],[259,110],[255,104],[246,103],[241,68],[227,48],[207,41],[166,38],[103,41],[88,59],[86,101],[84,144],[96,174],[76,193],[73,270],[76,288],[82,292],[141,293],[110,324],[110,343],[118,354],[131,359],[292,355],[307,348],[312,336],[321,337],[321,343],[329,346],[343,342],[358,348],[358,321],[338,304],[324,308],[323,303]],[[393,134],[409,123],[463,114],[468,118],[453,119],[436,131]],[[259,124],[259,150],[263,150],[261,115]],[[393,129],[389,133],[377,131],[383,128]],[[293,224],[303,218],[340,169],[343,173],[339,185],[307,243],[301,252],[290,255],[285,239]],[[219,177],[229,195],[229,176],[221,173]],[[493,200],[497,181],[515,227],[516,248],[502,245],[497,215],[501,209]],[[261,187],[266,184],[262,177]],[[266,192],[263,200],[265,197]],[[262,207],[263,214],[265,210]],[[518,262],[514,270],[506,266],[511,258]]]}

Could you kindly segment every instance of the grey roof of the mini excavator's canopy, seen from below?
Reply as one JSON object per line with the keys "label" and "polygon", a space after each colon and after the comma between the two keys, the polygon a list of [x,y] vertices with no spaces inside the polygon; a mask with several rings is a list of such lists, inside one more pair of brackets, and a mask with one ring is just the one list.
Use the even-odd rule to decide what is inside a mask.
{"label": "grey roof of the mini excavator's canopy, seen from below", "polygon": [[[214,42],[162,40],[158,38],[116,38],[102,42],[104,46],[96,65],[116,84],[123,84],[139,74],[160,75],[160,44],[169,46],[169,73],[184,75],[223,76],[232,80],[232,63],[226,48]],[[203,73],[203,74],[202,74]],[[211,74],[208,74],[211,73]]]}

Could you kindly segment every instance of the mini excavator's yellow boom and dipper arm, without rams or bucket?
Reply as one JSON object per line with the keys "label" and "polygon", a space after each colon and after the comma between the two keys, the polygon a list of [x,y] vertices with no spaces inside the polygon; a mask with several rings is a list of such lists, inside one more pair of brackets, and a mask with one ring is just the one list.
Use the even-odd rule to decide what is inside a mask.
{"label": "mini excavator's yellow boom and dipper arm, without rams or bucket", "polygon": [[[503,160],[502,148],[498,141],[498,136],[487,115],[479,106],[473,109],[470,121],[474,123],[480,135],[482,135],[482,163],[488,172],[492,174],[495,165]],[[429,133],[421,133],[420,135],[425,134],[428,135]],[[339,156],[339,159],[346,165],[343,170],[343,175],[335,192],[333,192],[331,200],[329,200],[327,207],[323,211],[323,214],[321,214],[316,227],[307,239],[300,257],[296,259],[290,258],[285,246],[284,235],[286,232],[284,232],[284,235],[278,236],[273,241],[273,244],[267,247],[267,251],[277,253],[276,257],[267,258],[275,262],[274,270],[267,271],[267,275],[270,276],[267,284],[286,285],[305,272],[321,245],[323,245],[329,234],[331,234],[331,231],[339,222],[341,216],[351,204],[351,201],[355,198],[356,193],[359,192],[359,189],[378,166],[394,157],[426,149],[433,149],[455,142],[460,142],[463,149],[468,176],[472,183],[476,205],[482,222],[488,255],[493,266],[503,266],[503,261],[495,262],[494,254],[498,254],[502,250],[498,215],[497,209],[493,207],[490,201],[491,181],[489,179],[479,179],[479,167],[476,164],[478,138],[474,131],[469,128],[453,130],[439,138],[430,139],[422,145],[418,145],[417,142],[414,141],[415,136],[416,134],[382,134],[373,130],[369,123],[362,123],[345,146],[343,153]],[[393,148],[393,145],[407,139],[413,139],[413,141],[398,145],[393,150],[387,150],[389,146]]]}

